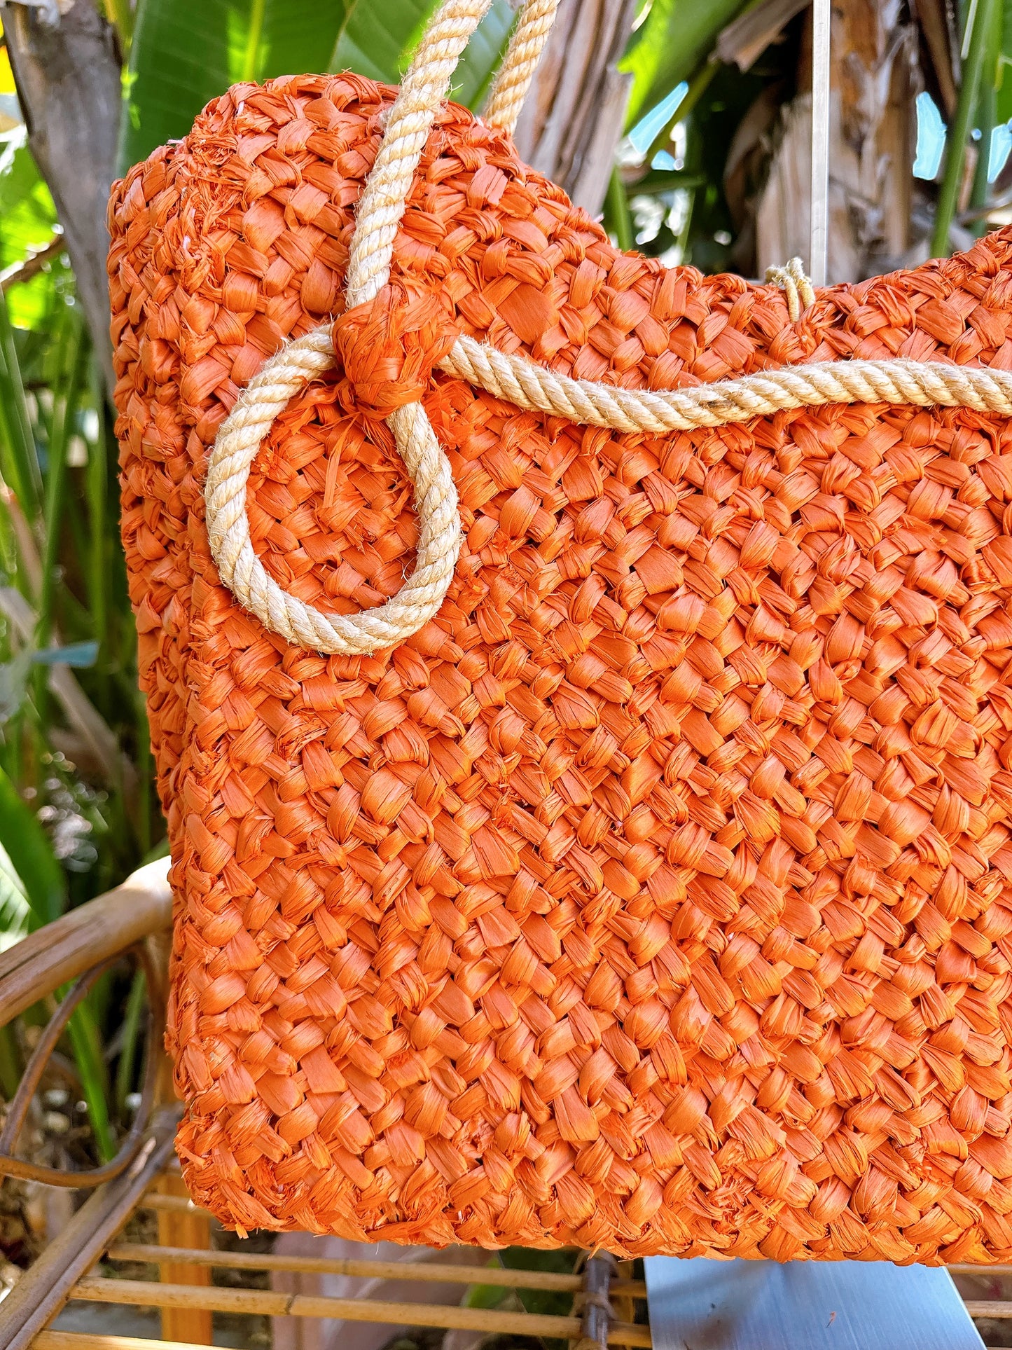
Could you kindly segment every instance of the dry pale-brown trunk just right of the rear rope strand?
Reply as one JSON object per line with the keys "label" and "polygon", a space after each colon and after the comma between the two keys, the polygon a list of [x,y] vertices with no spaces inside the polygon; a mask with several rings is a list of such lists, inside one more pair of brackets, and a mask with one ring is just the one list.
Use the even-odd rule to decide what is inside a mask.
{"label": "dry pale-brown trunk just right of the rear rope strand", "polygon": [[631,77],[618,70],[637,0],[561,0],[517,148],[592,216],[600,211]]}

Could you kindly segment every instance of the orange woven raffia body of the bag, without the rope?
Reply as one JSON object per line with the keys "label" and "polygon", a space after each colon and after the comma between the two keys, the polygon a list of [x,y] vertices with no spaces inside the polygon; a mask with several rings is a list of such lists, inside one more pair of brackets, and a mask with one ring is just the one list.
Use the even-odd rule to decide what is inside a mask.
{"label": "orange woven raffia body of the bag, without the rope", "polygon": [[448,107],[391,288],[250,479],[270,574],[347,613],[413,563],[382,417],[422,394],[449,451],[440,614],[328,659],[221,586],[202,467],[264,358],[340,312],[390,97],[236,86],[112,197],[193,1196],[399,1242],[1012,1258],[1012,427],[831,406],[652,439],[430,374],[457,332],[649,387],[1012,369],[1012,234],[791,324],[776,288],[617,252]]}

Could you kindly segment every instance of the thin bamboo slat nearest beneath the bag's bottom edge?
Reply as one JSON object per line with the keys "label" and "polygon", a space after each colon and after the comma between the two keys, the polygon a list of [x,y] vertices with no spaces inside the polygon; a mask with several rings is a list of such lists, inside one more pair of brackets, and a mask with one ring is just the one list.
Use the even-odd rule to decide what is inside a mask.
{"label": "thin bamboo slat nearest beneath the bag's bottom edge", "polygon": [[[356,1261],[343,1257],[286,1257],[259,1251],[205,1251],[196,1247],[148,1246],[144,1242],[117,1242],[107,1256],[112,1261],[146,1261],[148,1265],[179,1262],[221,1266],[228,1270],[293,1270],[304,1274],[344,1274],[360,1280],[417,1280],[422,1284],[491,1284],[503,1289],[546,1289],[576,1293],[583,1288],[579,1274],[552,1270],[505,1270],[497,1266],[466,1266],[441,1261]],[[167,1276],[166,1276],[167,1278]],[[177,1284],[186,1281],[175,1281]],[[208,1281],[209,1282],[209,1281]],[[645,1299],[642,1280],[613,1280],[610,1293]]]}

